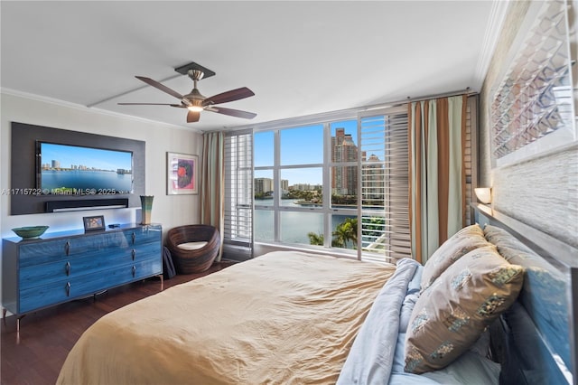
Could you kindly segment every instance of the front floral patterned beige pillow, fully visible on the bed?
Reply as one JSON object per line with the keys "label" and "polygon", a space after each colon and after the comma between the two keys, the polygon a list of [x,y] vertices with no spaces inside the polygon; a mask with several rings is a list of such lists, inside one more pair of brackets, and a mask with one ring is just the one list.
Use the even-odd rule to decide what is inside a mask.
{"label": "front floral patterned beige pillow, fully visible on the bed", "polygon": [[406,333],[405,371],[447,366],[514,303],[524,268],[495,247],[474,249],[443,271],[417,300]]}

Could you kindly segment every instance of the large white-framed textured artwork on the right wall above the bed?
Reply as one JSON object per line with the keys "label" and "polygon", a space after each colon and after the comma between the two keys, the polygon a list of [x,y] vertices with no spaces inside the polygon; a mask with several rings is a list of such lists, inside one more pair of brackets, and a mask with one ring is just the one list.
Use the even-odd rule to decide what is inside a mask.
{"label": "large white-framed textured artwork on the right wall above the bed", "polygon": [[578,140],[572,57],[563,1],[533,2],[492,87],[492,166],[528,160]]}

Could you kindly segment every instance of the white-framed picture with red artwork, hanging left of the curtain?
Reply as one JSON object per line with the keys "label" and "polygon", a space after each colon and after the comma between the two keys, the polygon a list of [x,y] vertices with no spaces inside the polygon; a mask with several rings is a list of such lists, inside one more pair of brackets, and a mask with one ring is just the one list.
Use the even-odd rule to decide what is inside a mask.
{"label": "white-framed picture with red artwork, hanging left of the curtain", "polygon": [[199,156],[166,153],[167,195],[199,193]]}

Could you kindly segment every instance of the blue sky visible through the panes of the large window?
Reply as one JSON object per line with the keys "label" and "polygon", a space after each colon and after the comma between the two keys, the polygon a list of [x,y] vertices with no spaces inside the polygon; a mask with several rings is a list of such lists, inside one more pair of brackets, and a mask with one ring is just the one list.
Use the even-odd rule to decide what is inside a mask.
{"label": "blue sky visible through the panes of the large window", "polygon": [[[357,120],[346,120],[331,123],[331,136],[336,128],[345,128],[357,145]],[[257,132],[255,134],[255,166],[272,166],[274,162],[273,131]],[[281,131],[281,164],[322,164],[323,163],[323,126],[313,125],[295,127]],[[255,177],[271,178],[270,171],[256,171]],[[288,179],[289,184],[322,183],[322,169],[301,168],[282,171],[282,179]]]}

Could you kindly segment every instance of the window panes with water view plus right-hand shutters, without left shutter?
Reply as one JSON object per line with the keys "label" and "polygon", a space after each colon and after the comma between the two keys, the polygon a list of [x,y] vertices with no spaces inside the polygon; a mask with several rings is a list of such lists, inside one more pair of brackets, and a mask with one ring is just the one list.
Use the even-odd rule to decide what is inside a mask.
{"label": "window panes with water view plus right-hand shutters, without left shutter", "polygon": [[381,111],[257,131],[255,241],[382,261],[409,255],[408,220],[398,221],[403,212],[391,207],[405,204],[407,214],[407,196],[405,203],[397,196],[400,183],[407,195],[407,140],[400,135],[407,137],[405,108],[395,116]]}

